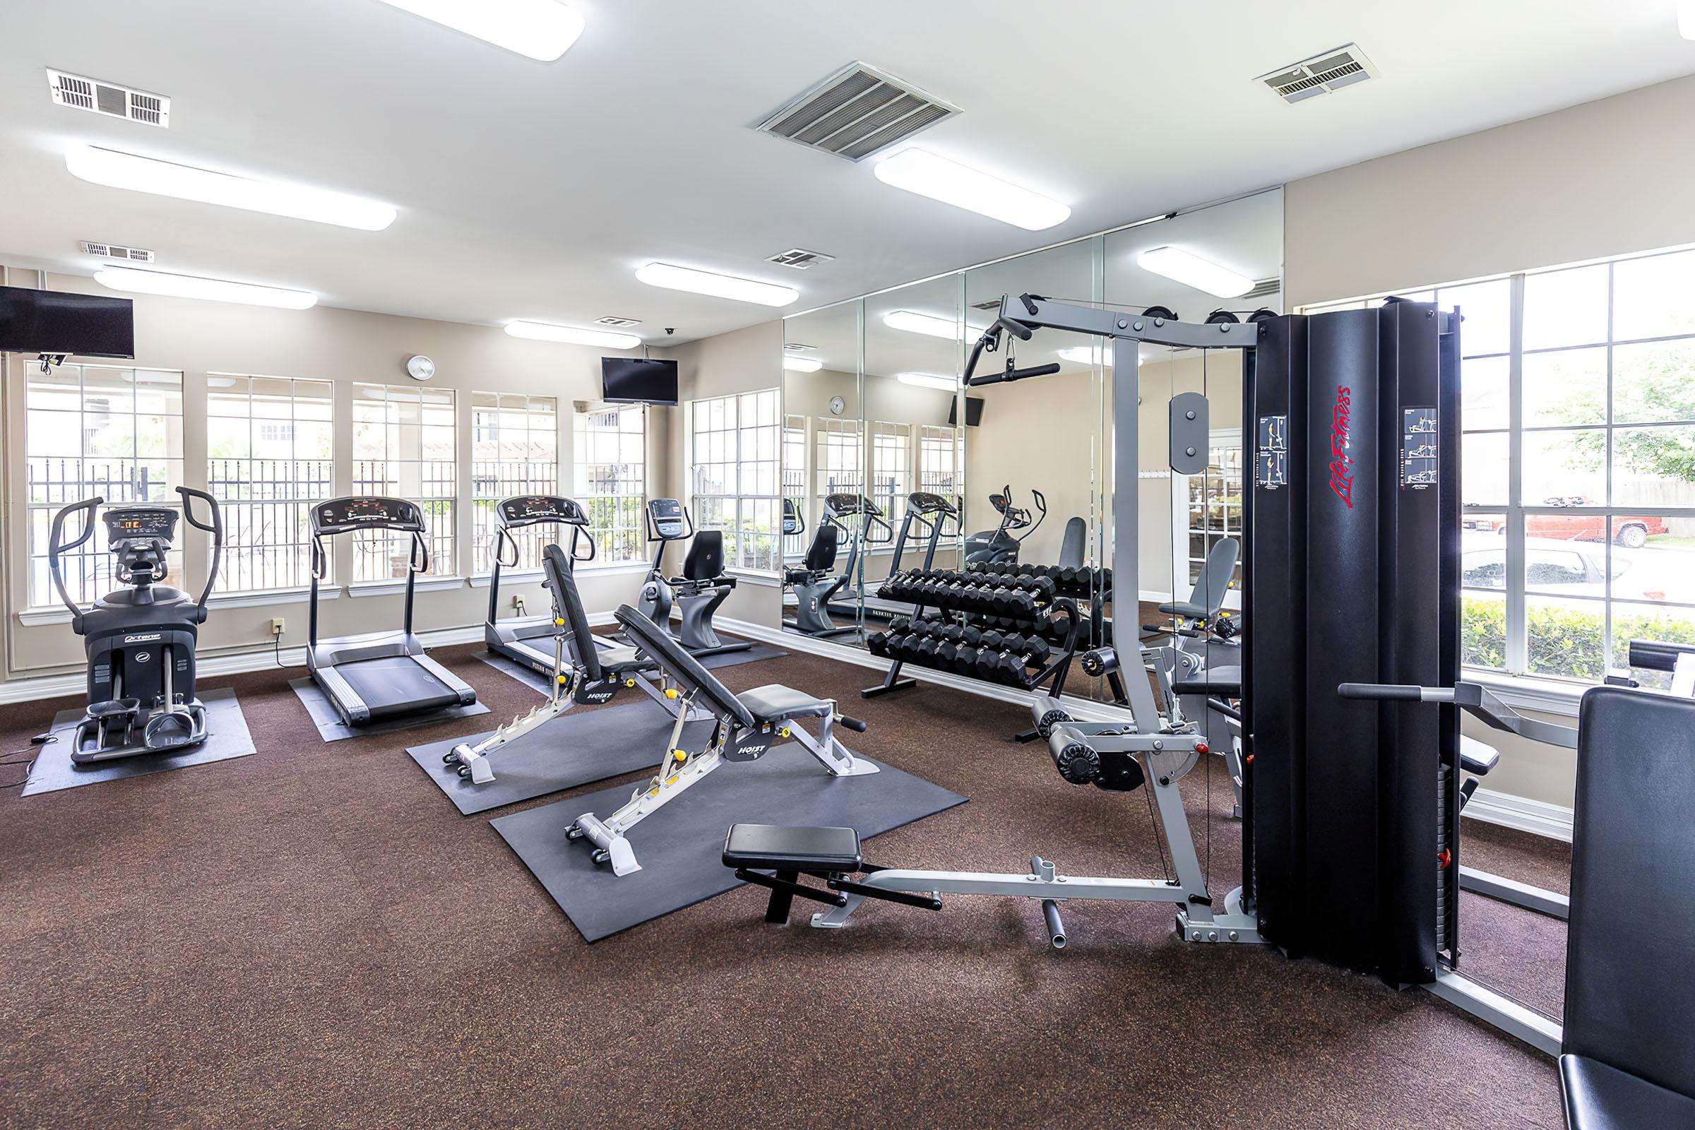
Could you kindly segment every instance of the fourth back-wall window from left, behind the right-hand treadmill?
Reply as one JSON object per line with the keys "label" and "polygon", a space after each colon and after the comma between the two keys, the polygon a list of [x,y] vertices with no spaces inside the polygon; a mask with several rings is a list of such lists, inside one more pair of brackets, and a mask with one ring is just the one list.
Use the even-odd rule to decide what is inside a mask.
{"label": "fourth back-wall window from left, behind the right-hand treadmill", "polygon": [[[471,569],[495,568],[495,503],[559,493],[559,408],[553,396],[471,393]],[[514,530],[519,568],[539,569],[556,530]]]}

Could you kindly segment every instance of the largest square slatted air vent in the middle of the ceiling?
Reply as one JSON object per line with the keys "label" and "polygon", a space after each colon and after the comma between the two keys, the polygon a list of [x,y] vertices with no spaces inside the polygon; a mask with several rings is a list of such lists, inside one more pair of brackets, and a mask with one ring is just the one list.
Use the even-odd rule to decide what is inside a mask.
{"label": "largest square slatted air vent in the middle of the ceiling", "polygon": [[958,112],[875,66],[849,63],[754,129],[863,161]]}

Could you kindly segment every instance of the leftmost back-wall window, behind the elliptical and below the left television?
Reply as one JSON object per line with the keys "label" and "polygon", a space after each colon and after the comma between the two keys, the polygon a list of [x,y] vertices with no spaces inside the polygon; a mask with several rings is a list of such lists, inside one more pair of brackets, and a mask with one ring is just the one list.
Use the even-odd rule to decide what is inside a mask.
{"label": "leftmost back-wall window, behind the elliptical and below the left television", "polygon": [[[36,381],[34,371],[25,373],[24,378],[24,498],[27,512],[27,593],[24,596],[24,612],[63,608],[59,595],[53,588],[53,581],[47,574],[47,537],[53,529],[53,517],[69,503],[98,495],[105,498],[107,505],[154,505],[181,512],[181,495],[178,495],[175,488],[183,483],[185,469],[183,447],[186,420],[183,415],[183,373],[180,369],[154,369],[146,366],[137,368],[76,363],[56,366],[54,369],[61,379],[69,376],[73,371],[76,373],[75,410],[44,407],[32,393],[39,391],[41,396],[54,393],[47,393],[44,388],[37,390],[32,385],[32,381]],[[112,386],[127,385],[131,393],[141,390],[144,385],[161,385],[168,390],[175,390],[176,412],[142,413],[137,410],[136,396],[131,395],[129,454],[90,454],[93,430],[98,427],[95,420],[114,415],[110,410],[90,410],[92,398],[88,393],[88,376],[93,373],[103,374],[105,383]],[[69,393],[68,385],[59,385],[58,388],[63,390],[58,395]],[[170,396],[170,391],[166,396]],[[37,420],[37,415],[46,417],[47,413],[51,413],[51,417],[64,417],[64,420],[59,422],[68,422],[69,417],[76,417],[76,454],[71,454],[68,449],[64,452],[37,452],[34,449],[34,446],[41,440],[37,439],[37,429],[32,427],[32,424],[44,424],[46,420]],[[163,420],[166,454],[142,456],[142,435],[159,427],[158,420]],[[171,424],[173,420],[175,427]],[[176,440],[175,454],[171,452],[171,439]],[[151,471],[151,464],[161,463],[164,468],[158,486],[154,488],[149,474],[147,490],[139,490],[137,485],[141,478],[137,471],[141,466],[147,464]],[[171,471],[173,464],[175,474]],[[103,474],[100,471],[103,471]],[[176,547],[170,552],[166,564],[170,576],[176,578],[178,588],[190,590],[193,586],[188,583],[188,578],[183,576],[183,525],[185,523],[178,522]],[[64,537],[73,539],[78,534],[80,527],[68,522]],[[69,591],[71,600],[80,605],[93,603],[95,598],[117,588],[112,556],[107,552],[105,532],[98,517],[95,517],[93,537],[90,537],[88,542],[76,552],[61,556],[61,564],[64,566],[64,588]]]}

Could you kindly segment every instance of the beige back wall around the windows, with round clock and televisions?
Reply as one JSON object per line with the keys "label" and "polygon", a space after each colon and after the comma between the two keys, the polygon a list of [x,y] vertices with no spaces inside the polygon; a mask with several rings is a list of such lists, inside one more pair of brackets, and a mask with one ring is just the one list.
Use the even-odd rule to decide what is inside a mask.
{"label": "beige back wall around the windows, with round clock and televisions", "polygon": [[[3,263],[3,259],[0,259]],[[34,271],[12,269],[10,285],[34,286]],[[47,274],[41,280],[51,290],[108,293],[81,276]],[[432,388],[453,388],[458,396],[459,442],[459,505],[458,573],[486,573],[486,562],[470,561],[471,507],[468,478],[471,446],[471,396],[475,391],[514,391],[547,395],[559,400],[559,463],[561,483],[570,481],[571,469],[571,402],[598,400],[600,356],[603,351],[581,346],[559,346],[508,337],[500,329],[486,325],[459,325],[402,319],[354,310],[317,307],[312,310],[270,310],[185,298],[136,296],[136,366],[180,369],[183,373],[185,418],[205,413],[207,373],[254,373],[266,376],[295,376],[336,381],[336,418],[351,418],[354,383],[412,385],[405,374],[405,359],[427,354],[436,361],[437,374]],[[0,356],[3,364],[5,398],[5,491],[3,491],[3,586],[5,598],[5,649],[0,669],[7,679],[75,671],[83,662],[81,640],[68,623],[24,625],[17,612],[27,601],[25,591],[25,498],[24,498],[24,379],[31,357]],[[649,451],[649,476],[670,481],[670,408],[649,410],[653,440]],[[188,486],[205,485],[205,430],[185,429],[185,479]],[[353,451],[353,429],[341,424],[336,435],[337,474],[347,474]],[[337,481],[347,490],[346,481]],[[566,491],[568,493],[568,491]],[[197,530],[185,529],[185,561],[190,588],[198,591],[203,579],[202,562],[207,542]],[[342,539],[346,540],[346,539]],[[347,547],[337,562],[336,576],[349,576]],[[622,571],[585,571],[583,600],[590,613],[610,612],[620,601],[631,600],[641,584],[641,576]],[[508,586],[502,586],[503,596]],[[546,608],[539,584],[510,586],[522,593],[531,612]],[[488,590],[459,584],[449,591],[419,593],[415,627],[420,632],[458,629],[481,623]],[[327,634],[373,632],[392,629],[400,618],[400,596],[349,596],[324,605],[329,622]],[[270,649],[270,622],[281,617],[286,623],[283,644],[295,647],[305,642],[307,605],[300,601],[266,603],[249,607],[214,608],[200,629],[205,657]]]}

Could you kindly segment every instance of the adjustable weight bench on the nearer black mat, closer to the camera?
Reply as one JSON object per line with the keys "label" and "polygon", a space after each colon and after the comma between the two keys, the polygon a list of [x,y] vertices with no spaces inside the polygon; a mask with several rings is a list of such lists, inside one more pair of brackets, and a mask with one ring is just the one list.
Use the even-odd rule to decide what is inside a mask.
{"label": "adjustable weight bench on the nearer black mat, closer to the camera", "polygon": [[[878,771],[875,764],[854,756],[836,739],[837,722],[861,734],[864,723],[836,713],[834,700],[817,698],[780,683],[732,695],[670,632],[637,610],[624,605],[617,610],[617,618],[636,651],[656,662],[676,684],[683,706],[705,712],[705,717],[714,718],[717,725],[712,727],[705,749],[678,749],[683,732],[680,715],[658,773],[631,793],[629,803],[607,817],[585,811],[571,825],[568,837],[588,840],[593,861],[612,864],[612,874],[641,871],[629,844],[631,828],[725,761],[758,761],[780,739],[798,742],[831,776],[849,778]],[[817,718],[815,737],[797,725],[802,718]]]}

